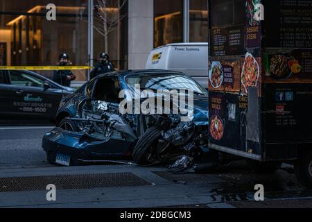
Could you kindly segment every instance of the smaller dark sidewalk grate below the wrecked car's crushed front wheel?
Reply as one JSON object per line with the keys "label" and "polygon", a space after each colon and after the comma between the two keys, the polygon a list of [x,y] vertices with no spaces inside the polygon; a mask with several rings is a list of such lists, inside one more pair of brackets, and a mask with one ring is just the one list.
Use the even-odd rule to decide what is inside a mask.
{"label": "smaller dark sidewalk grate below the wrecked car's crushed front wheel", "polygon": [[170,173],[167,171],[154,171],[153,173],[173,182],[187,182],[190,184],[224,182],[220,176],[214,174]]}

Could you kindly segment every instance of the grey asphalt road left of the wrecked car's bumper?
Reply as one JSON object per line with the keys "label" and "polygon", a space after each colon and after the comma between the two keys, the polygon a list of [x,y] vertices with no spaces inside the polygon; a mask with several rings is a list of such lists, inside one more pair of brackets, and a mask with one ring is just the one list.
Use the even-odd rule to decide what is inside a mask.
{"label": "grey asphalt road left of the wrecked car's bumper", "polygon": [[41,143],[53,126],[0,127],[0,169],[51,167]]}

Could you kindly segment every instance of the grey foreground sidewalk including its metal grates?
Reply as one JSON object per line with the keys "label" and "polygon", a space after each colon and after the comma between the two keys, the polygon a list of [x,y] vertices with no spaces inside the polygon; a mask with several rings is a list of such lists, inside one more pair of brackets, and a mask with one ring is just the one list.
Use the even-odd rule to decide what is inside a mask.
{"label": "grey foreground sidewalk including its metal grates", "polygon": [[[232,172],[173,175],[161,167],[135,165],[7,169],[0,171],[0,207],[224,208],[233,207],[227,201],[253,200],[253,190],[245,187],[250,181],[293,180],[285,171],[243,177]],[[46,185],[53,182],[56,201],[49,202]]]}

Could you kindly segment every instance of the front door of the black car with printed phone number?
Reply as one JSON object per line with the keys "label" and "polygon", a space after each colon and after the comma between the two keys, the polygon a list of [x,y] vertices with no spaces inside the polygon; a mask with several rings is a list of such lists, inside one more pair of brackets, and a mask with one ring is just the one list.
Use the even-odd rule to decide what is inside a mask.
{"label": "front door of the black car with printed phone number", "polygon": [[9,71],[10,103],[19,118],[53,119],[62,98],[60,89],[44,87],[44,78],[28,71]]}

